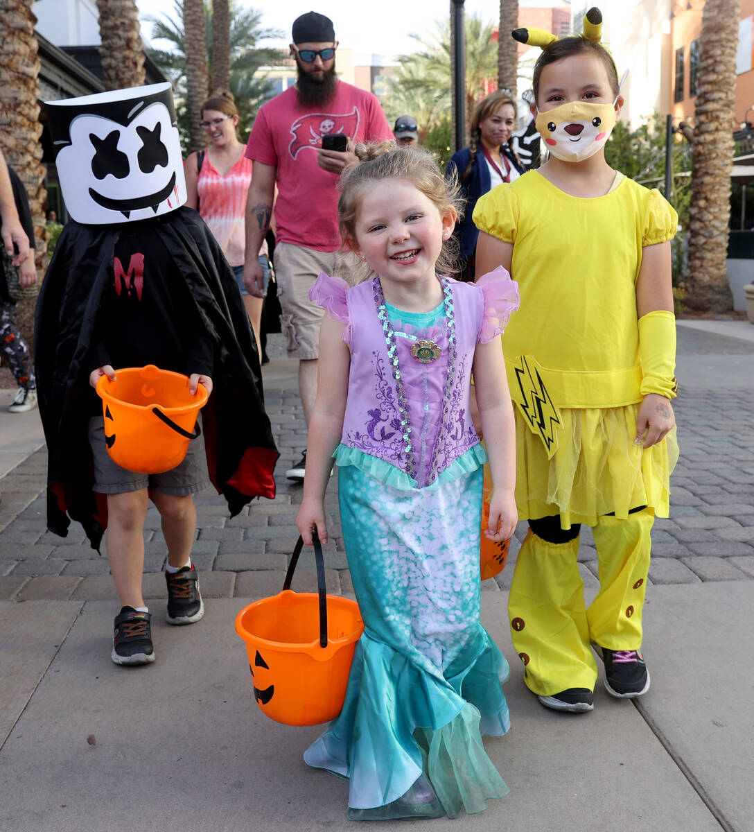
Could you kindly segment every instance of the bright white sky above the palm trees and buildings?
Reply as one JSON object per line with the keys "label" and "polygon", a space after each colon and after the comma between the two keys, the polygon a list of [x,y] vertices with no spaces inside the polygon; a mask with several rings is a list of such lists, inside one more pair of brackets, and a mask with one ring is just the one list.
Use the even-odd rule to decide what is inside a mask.
{"label": "bright white sky above the palm trees and buildings", "polygon": [[[160,17],[167,12],[174,16],[174,0],[136,0],[140,16]],[[436,20],[450,17],[449,0],[379,0],[374,3],[355,3],[353,0],[236,0],[240,7],[263,10],[265,27],[283,30],[278,41],[267,46],[287,47],[290,29],[299,14],[312,9],[333,20],[335,35],[343,48],[353,49],[357,55],[395,56],[416,52],[411,32],[425,35],[434,28]],[[547,3],[539,0],[537,5]],[[522,3],[523,5],[523,3]],[[496,21],[500,13],[499,0],[466,0],[465,13],[479,14],[485,21]],[[150,25],[143,23],[146,37]]]}

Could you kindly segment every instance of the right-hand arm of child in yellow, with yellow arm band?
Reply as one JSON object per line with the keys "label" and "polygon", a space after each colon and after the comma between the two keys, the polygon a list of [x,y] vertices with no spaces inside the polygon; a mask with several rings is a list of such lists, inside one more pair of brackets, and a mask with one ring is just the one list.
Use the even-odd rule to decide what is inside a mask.
{"label": "right-hand arm of child in yellow, with yellow arm band", "polygon": [[[634,442],[651,448],[675,425],[672,395],[675,369],[675,323],[673,320],[673,281],[670,243],[646,245],[636,281],[636,312],[639,323],[639,346],[644,371],[644,399],[638,409]],[[651,315],[652,313],[660,313]],[[665,314],[663,314],[665,313]],[[645,316],[651,315],[651,318]],[[653,387],[650,374],[657,374]]]}

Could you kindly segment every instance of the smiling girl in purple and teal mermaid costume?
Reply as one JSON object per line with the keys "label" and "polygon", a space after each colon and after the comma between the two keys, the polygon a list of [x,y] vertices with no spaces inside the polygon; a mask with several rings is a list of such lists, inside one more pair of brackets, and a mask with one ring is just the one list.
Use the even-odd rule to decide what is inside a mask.
{"label": "smiling girl in purple and teal mermaid costume", "polygon": [[[365,624],[343,711],[304,754],[349,780],[352,820],[485,810],[507,786],[481,735],[510,727],[508,664],[480,624],[482,465],[492,540],[510,537],[513,412],[500,334],[518,305],[505,270],[441,277],[456,187],[426,151],[357,146],[338,204],[371,276],[321,274],[327,311],[298,529],[327,541],[333,457],[348,566]],[[474,371],[485,450],[471,423]]]}

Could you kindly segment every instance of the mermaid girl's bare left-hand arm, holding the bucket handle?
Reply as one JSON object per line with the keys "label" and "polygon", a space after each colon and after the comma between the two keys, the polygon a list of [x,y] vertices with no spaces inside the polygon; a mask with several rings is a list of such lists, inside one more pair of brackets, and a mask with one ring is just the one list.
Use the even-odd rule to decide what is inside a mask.
{"label": "mermaid girl's bare left-hand arm, holding the bucket handle", "polygon": [[320,541],[328,542],[324,495],[333,468],[333,451],[343,433],[351,365],[350,350],[341,340],[343,329],[344,324],[325,317],[319,330],[317,399],[309,422],[306,477],[296,518],[298,532],[308,546],[312,544],[313,527],[317,528]]}

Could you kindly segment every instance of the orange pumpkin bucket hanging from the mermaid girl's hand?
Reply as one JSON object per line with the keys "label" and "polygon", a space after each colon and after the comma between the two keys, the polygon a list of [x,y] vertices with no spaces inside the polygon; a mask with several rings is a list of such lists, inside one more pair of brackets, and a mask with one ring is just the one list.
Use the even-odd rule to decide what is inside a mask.
{"label": "orange pumpkin bucket hanging from the mermaid girl's hand", "polygon": [[364,631],[357,603],[327,594],[316,533],[318,592],[289,588],[302,547],[299,537],[283,592],[249,604],[235,619],[235,631],[246,642],[257,705],[288,726],[313,726],[338,716]]}

